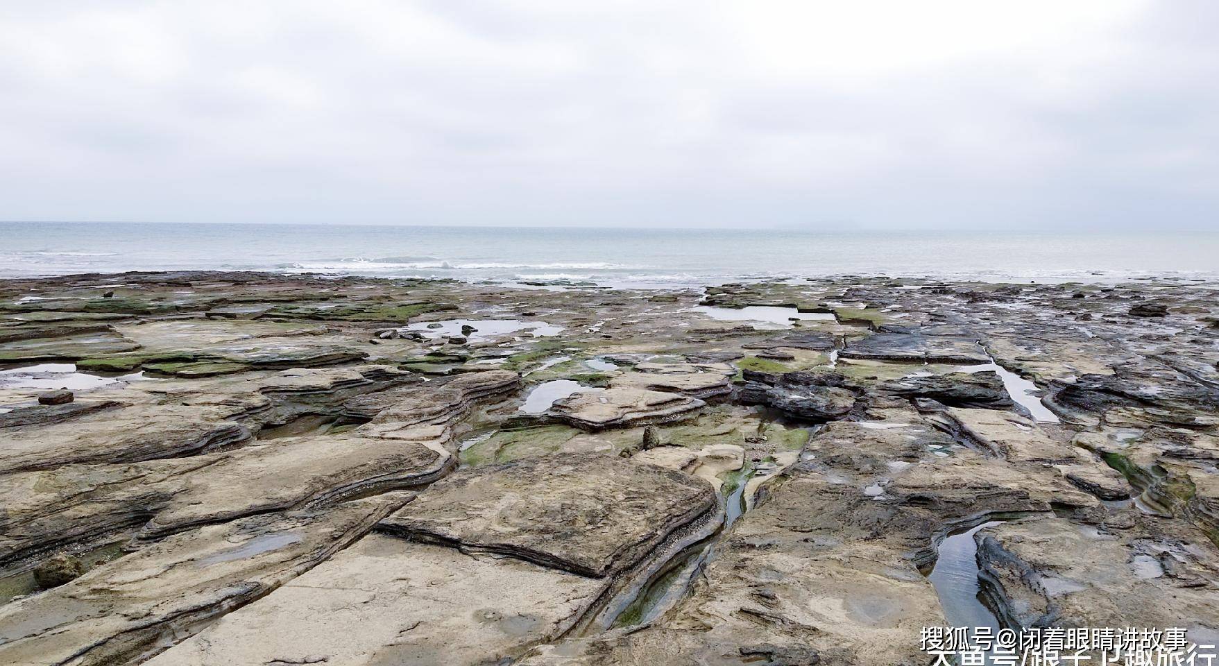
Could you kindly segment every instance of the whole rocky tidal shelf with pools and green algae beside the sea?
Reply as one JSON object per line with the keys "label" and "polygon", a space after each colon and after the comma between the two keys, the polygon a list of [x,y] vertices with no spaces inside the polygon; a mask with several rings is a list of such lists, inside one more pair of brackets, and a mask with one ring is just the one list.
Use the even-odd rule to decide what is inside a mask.
{"label": "whole rocky tidal shelf with pools and green algae beside the sea", "polygon": [[1217,284],[0,281],[0,662],[1215,643],[1217,461]]}

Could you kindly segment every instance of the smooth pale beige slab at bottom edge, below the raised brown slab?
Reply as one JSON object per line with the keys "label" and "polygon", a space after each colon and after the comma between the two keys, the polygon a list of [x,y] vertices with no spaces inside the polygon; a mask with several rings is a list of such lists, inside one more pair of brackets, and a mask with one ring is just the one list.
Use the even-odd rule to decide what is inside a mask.
{"label": "smooth pale beige slab at bottom edge, below the raised brown slab", "polygon": [[606,584],[371,534],[146,664],[502,664],[567,631]]}

